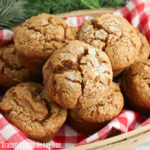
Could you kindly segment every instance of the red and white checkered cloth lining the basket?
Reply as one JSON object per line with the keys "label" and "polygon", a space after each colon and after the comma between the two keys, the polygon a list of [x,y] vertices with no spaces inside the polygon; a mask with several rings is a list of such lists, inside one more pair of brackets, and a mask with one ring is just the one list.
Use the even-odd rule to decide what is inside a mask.
{"label": "red and white checkered cloth lining the basket", "polygon": [[[128,19],[135,27],[139,28],[150,41],[150,0],[131,0],[125,7],[115,12]],[[79,27],[90,16],[78,16],[65,18],[65,21],[75,27]],[[13,41],[13,32],[0,30],[0,45]],[[150,118],[146,118],[134,111],[123,110],[121,114],[107,124],[97,133],[87,136],[73,130],[65,124],[57,135],[47,144],[28,139],[21,131],[11,125],[0,114],[0,149],[2,150],[49,150],[79,146],[109,137],[116,130],[125,133],[137,127],[150,124]]]}

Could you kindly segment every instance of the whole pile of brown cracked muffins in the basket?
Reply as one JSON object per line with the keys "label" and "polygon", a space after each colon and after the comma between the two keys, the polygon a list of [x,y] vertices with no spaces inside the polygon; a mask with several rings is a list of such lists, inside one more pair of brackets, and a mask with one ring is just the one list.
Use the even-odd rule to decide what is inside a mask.
{"label": "whole pile of brown cracked muffins in the basket", "polygon": [[[50,141],[67,120],[85,134],[119,115],[124,99],[150,112],[150,45],[127,20],[104,14],[79,30],[49,14],[14,30],[0,47],[0,110],[29,138]],[[121,78],[121,88],[113,79]],[[42,81],[43,79],[43,81]]]}

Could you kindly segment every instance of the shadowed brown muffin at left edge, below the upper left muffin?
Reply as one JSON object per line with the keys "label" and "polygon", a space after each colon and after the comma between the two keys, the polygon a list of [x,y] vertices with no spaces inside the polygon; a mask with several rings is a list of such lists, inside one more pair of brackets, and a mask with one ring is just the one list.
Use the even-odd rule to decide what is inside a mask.
{"label": "shadowed brown muffin at left edge, below the upper left muffin", "polygon": [[11,87],[32,78],[33,73],[21,64],[14,44],[0,47],[0,86]]}

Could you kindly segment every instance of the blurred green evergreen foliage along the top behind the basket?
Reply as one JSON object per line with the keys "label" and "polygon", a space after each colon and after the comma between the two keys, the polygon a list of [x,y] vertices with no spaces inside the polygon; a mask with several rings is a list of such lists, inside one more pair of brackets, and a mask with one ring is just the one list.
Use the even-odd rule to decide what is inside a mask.
{"label": "blurred green evergreen foliage along the top behind the basket", "polygon": [[81,9],[120,8],[128,0],[0,0],[0,29],[8,29],[40,13],[59,14]]}

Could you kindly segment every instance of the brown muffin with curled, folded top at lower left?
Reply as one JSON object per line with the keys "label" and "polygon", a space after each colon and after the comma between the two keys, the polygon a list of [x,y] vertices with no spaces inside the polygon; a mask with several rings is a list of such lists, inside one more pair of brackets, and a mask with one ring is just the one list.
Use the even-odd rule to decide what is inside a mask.
{"label": "brown muffin with curled, folded top at lower left", "polygon": [[18,84],[5,93],[0,109],[26,136],[49,142],[65,122],[67,110],[51,101],[43,89],[37,83]]}

